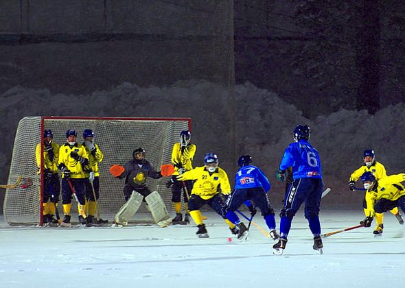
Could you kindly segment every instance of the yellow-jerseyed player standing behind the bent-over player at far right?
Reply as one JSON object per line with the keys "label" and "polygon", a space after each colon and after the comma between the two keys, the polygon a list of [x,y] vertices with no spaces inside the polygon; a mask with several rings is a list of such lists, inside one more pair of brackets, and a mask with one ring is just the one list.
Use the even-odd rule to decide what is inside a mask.
{"label": "yellow-jerseyed player standing behind the bent-over player at far right", "polygon": [[[375,161],[374,150],[372,150],[372,149],[364,150],[363,160],[364,160],[364,165],[362,165],[362,167],[360,167],[359,169],[357,169],[356,171],[351,173],[351,176],[349,178],[348,184],[349,184],[349,189],[351,191],[354,191],[356,189],[355,188],[356,181],[365,172],[373,173],[373,176],[375,177],[376,180],[380,180],[381,178],[386,177],[386,169],[385,169],[384,165]],[[363,201],[363,208],[364,208],[364,215],[366,217],[371,217],[370,211],[373,209],[373,207],[367,206],[367,203],[370,202],[370,200],[368,199],[369,197],[371,197],[371,194],[365,193],[364,201]],[[395,217],[397,218],[397,220],[400,222],[401,225],[404,224],[404,219],[402,219],[402,215],[398,211],[397,207],[394,207],[390,212],[393,213],[393,215],[395,215]],[[381,219],[381,221],[382,221],[382,219]]]}

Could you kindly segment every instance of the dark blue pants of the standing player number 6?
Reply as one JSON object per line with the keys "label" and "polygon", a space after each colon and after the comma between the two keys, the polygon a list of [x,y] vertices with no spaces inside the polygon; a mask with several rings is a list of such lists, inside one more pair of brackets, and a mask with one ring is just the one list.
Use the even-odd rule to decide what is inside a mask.
{"label": "dark blue pants of the standing player number 6", "polygon": [[323,182],[319,178],[298,178],[292,182],[284,199],[284,207],[281,209],[280,236],[287,237],[290,232],[292,218],[303,203],[305,203],[305,218],[308,219],[310,229],[314,235],[321,234],[319,222],[319,206]]}

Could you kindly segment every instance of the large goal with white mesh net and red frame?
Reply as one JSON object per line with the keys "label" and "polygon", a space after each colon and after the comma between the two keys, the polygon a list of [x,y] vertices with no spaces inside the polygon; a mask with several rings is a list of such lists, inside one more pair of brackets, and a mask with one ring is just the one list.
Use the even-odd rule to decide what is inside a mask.
{"label": "large goal with white mesh net and red frame", "polygon": [[[43,200],[40,191],[42,191],[43,180],[38,174],[35,149],[38,143],[43,143],[45,129],[54,132],[53,141],[58,145],[66,143],[67,130],[76,130],[78,143],[83,142],[83,130],[91,129],[95,132],[94,141],[104,154],[104,159],[99,164],[100,199],[97,204],[102,218],[113,221],[115,213],[124,204],[124,179],[118,180],[109,173],[111,165],[124,165],[132,160],[132,151],[142,147],[146,150],[146,159],[159,171],[161,165],[171,163],[172,147],[178,142],[181,131],[191,129],[191,119],[106,117],[25,117],[21,119],[14,140],[8,183],[14,183],[19,176],[23,176],[23,178],[31,178],[33,184],[25,189],[21,185],[14,189],[6,189],[3,213],[8,224],[42,224],[40,215]],[[168,178],[159,180],[148,178],[146,185],[150,191],[158,191],[161,194],[167,211],[173,213],[172,193],[165,187],[167,180]],[[61,199],[60,196],[58,210],[62,218]],[[142,205],[139,211],[146,212],[146,206]],[[77,217],[74,217],[77,213],[74,197],[71,212],[72,222],[77,221]]]}

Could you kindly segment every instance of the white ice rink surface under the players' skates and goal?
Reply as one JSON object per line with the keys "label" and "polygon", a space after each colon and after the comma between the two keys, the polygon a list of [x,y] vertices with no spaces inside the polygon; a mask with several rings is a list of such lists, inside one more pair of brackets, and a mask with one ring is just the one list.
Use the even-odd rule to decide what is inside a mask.
{"label": "white ice rink surface under the players' skates and goal", "polygon": [[[405,279],[404,227],[389,213],[382,237],[373,237],[374,221],[323,239],[320,255],[299,211],[281,256],[255,226],[246,242],[229,241],[227,224],[203,214],[209,239],[198,239],[192,224],[41,228],[8,226],[1,218],[0,287],[380,288]],[[321,211],[323,233],[363,218],[361,210]],[[266,228],[259,213],[254,221]]]}

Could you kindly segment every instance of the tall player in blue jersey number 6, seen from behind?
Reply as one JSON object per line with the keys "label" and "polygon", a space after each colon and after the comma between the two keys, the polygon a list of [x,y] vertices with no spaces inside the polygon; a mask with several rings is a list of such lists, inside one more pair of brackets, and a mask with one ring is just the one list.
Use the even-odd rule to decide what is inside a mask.
{"label": "tall player in blue jersey number 6, seen from behind", "polygon": [[284,206],[280,217],[279,242],[273,245],[275,254],[282,254],[287,244],[292,218],[305,203],[305,218],[308,219],[310,230],[314,235],[314,250],[322,253],[321,224],[319,221],[319,206],[323,191],[321,160],[319,153],[308,142],[310,128],[307,125],[297,125],[294,129],[294,143],[288,145],[277,170],[277,180],[286,179],[286,169],[292,167],[292,184],[286,193]]}

